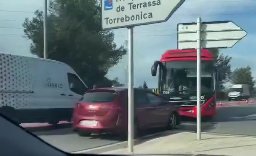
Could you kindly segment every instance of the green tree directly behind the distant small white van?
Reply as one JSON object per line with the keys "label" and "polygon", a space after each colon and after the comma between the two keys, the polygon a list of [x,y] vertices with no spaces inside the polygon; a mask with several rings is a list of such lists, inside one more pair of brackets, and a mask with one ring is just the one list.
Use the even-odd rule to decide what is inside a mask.
{"label": "green tree directly behind the distant small white van", "polygon": [[250,90],[253,91],[253,87],[256,83],[255,80],[253,80],[251,67],[242,67],[242,68],[236,68],[233,71],[231,82],[233,84],[247,84],[250,85]]}

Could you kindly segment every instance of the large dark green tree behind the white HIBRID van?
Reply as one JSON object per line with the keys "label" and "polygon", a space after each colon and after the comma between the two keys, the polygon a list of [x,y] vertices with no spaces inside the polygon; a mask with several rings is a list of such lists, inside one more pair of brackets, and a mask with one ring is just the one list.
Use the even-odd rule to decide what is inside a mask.
{"label": "large dark green tree behind the white HIBRID van", "polygon": [[[126,49],[113,42],[113,31],[101,30],[98,0],[55,0],[48,11],[48,58],[70,65],[89,87],[106,79]],[[32,41],[30,52],[43,57],[43,12],[35,11],[35,17],[26,18],[23,27]]]}

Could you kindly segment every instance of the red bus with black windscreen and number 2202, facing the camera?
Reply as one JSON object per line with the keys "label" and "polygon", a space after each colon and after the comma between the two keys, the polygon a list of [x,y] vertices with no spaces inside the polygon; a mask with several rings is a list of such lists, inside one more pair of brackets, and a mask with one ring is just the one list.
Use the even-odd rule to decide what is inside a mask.
{"label": "red bus with black windscreen and number 2202, facing the camera", "polygon": [[[216,84],[218,73],[214,67],[216,57],[207,49],[201,50],[201,116],[212,118],[216,114]],[[159,67],[159,68],[158,68]],[[152,76],[158,69],[157,93],[179,107],[181,116],[196,118],[196,49],[167,50],[160,61],[155,61]]]}

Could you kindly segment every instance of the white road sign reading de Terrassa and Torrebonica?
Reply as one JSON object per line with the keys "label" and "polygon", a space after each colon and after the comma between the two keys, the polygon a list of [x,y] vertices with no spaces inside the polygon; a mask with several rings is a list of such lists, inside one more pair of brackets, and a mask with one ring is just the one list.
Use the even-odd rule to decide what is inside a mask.
{"label": "white road sign reading de Terrassa and Torrebonica", "polygon": [[102,0],[102,28],[167,21],[185,0]]}

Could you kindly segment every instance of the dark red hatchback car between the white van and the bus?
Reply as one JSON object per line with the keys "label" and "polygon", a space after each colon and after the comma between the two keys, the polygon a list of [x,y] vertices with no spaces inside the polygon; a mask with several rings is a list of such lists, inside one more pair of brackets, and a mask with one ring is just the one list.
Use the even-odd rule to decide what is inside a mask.
{"label": "dark red hatchback car between the white van and the bus", "polygon": [[[127,134],[128,92],[124,87],[91,89],[78,102],[73,113],[73,129],[80,136],[111,132]],[[173,129],[180,124],[176,107],[151,91],[134,89],[136,132],[156,127]]]}

